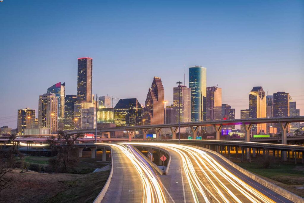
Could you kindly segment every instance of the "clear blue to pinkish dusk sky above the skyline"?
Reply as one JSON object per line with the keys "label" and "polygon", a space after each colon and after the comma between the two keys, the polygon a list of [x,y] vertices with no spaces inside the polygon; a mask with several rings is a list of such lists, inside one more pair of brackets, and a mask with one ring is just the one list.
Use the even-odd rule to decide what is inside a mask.
{"label": "clear blue to pinkish dusk sky above the skyline", "polygon": [[[207,68],[223,103],[249,107],[253,86],[290,93],[304,115],[302,1],[21,1],[0,3],[0,126],[36,110],[57,82],[77,94],[77,58],[93,58],[93,93],[137,98],[161,77],[165,100],[188,67]],[[117,101],[116,101],[117,102]]]}

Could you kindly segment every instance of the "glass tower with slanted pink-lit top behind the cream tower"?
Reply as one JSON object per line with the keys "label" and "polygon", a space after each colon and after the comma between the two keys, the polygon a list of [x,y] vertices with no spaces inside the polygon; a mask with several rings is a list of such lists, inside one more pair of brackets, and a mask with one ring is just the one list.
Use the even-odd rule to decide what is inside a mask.
{"label": "glass tower with slanted pink-lit top behind the cream tower", "polygon": [[65,83],[56,83],[47,89],[48,94],[54,94],[58,100],[58,130],[63,130],[64,125],[64,102],[65,102]]}

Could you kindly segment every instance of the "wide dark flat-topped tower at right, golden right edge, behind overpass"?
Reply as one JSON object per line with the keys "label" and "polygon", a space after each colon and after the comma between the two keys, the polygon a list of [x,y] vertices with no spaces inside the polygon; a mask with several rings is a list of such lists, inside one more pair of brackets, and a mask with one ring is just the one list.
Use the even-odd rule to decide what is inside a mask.
{"label": "wide dark flat-topped tower at right, golden right edge, behind overpass", "polygon": [[[273,117],[288,117],[289,116],[289,93],[277,92],[273,94]],[[277,133],[281,132],[280,126],[275,123]],[[289,131],[289,126],[288,126]]]}

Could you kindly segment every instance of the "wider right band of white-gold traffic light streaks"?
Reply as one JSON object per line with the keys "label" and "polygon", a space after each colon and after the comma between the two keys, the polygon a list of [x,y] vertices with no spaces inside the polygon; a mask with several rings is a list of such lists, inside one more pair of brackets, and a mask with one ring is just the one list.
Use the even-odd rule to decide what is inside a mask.
{"label": "wider right band of white-gold traffic light streaks", "polygon": [[235,176],[203,150],[177,144],[140,144],[178,153],[191,190],[191,202],[275,202]]}

